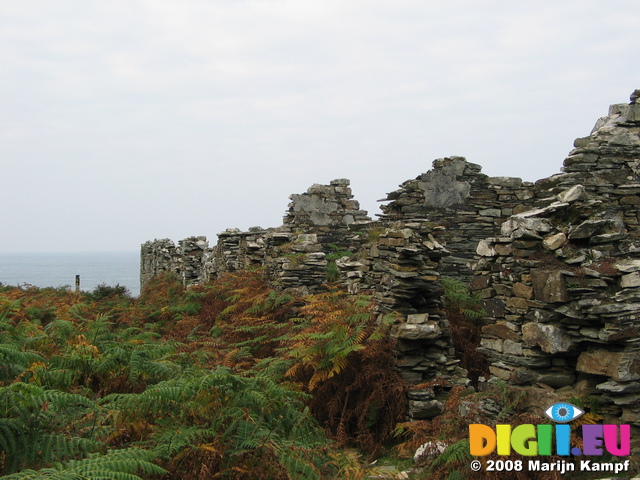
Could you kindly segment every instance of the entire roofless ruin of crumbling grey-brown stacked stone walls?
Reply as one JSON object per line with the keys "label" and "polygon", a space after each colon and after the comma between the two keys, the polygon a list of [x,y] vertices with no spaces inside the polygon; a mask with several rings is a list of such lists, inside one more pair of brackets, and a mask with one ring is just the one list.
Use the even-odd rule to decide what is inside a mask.
{"label": "entire roofless ruin of crumbling grey-brown stacked stone walls", "polygon": [[[481,351],[495,378],[541,387],[547,400],[597,398],[606,421],[640,427],[639,96],[611,106],[552,177],[489,177],[463,157],[437,159],[381,200],[377,220],[348,180],[313,185],[290,197],[280,227],[228,229],[214,246],[146,242],[141,284],[164,271],[191,285],[263,267],[274,285],[304,295],[325,288],[331,271],[400,314],[391,334],[410,384],[466,385],[441,298],[441,276],[457,278],[482,298]],[[329,260],[336,252],[345,255]],[[442,411],[433,391],[408,396],[411,418]]]}

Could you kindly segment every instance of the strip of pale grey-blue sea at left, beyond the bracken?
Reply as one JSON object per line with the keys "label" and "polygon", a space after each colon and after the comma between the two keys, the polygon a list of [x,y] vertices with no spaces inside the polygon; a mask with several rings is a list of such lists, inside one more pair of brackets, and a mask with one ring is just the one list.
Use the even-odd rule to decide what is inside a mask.
{"label": "strip of pale grey-blue sea at left, beyond the bracken", "polygon": [[140,295],[140,252],[0,253],[3,285],[76,288],[121,285]]}

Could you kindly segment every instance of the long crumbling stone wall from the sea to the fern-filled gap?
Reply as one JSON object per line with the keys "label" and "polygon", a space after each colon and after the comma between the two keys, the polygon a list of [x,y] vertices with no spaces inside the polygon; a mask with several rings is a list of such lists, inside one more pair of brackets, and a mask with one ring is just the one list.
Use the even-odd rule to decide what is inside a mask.
{"label": "long crumbling stone wall from the sea to the fern-filled gap", "polygon": [[[466,385],[442,310],[439,264],[448,252],[428,223],[371,221],[348,186],[348,180],[340,179],[292,195],[284,225],[248,232],[227,229],[212,248],[204,237],[183,240],[178,247],[169,240],[147,242],[141,282],[168,271],[193,285],[222,272],[263,267],[273,285],[304,296],[325,289],[334,271],[332,280],[351,293],[372,296],[382,312],[397,312],[391,335],[405,380],[417,385],[440,378]],[[415,419],[444,408],[428,389],[410,390],[408,402]]]}

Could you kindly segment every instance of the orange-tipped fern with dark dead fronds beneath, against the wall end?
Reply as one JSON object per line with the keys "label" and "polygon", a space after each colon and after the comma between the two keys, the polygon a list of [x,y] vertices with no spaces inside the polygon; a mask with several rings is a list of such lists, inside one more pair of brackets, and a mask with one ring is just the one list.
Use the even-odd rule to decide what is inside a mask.
{"label": "orange-tipped fern with dark dead fronds beneath, against the wall end", "polygon": [[297,333],[282,342],[291,365],[285,378],[313,395],[311,411],[340,443],[357,439],[375,452],[405,411],[387,335],[395,316],[379,315],[369,297],[339,290],[306,300],[291,320]]}

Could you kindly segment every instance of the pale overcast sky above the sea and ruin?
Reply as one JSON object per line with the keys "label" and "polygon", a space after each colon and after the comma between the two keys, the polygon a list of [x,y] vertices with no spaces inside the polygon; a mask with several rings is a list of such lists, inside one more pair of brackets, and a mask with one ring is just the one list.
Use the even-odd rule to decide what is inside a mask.
{"label": "pale overcast sky above the sea and ruin", "polygon": [[0,252],[135,251],[377,199],[464,156],[560,171],[640,88],[638,0],[0,2]]}

